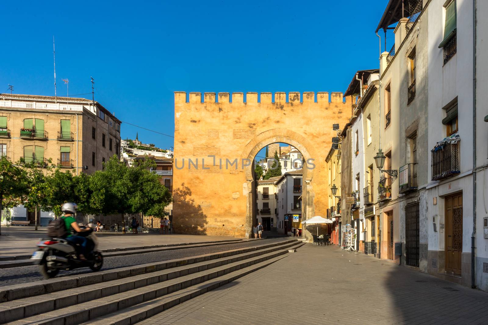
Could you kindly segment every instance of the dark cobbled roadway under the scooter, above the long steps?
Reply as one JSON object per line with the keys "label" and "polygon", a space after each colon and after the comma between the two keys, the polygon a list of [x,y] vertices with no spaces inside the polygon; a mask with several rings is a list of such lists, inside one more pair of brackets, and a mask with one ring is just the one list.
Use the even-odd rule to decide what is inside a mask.
{"label": "dark cobbled roadway under the scooter, above the long steps", "polygon": [[[204,237],[204,236],[198,236],[198,237]],[[172,260],[176,258],[183,258],[189,256],[203,255],[203,254],[209,254],[209,253],[214,253],[214,252],[219,252],[224,250],[253,247],[257,245],[264,245],[265,243],[279,242],[283,240],[286,240],[286,238],[251,240],[251,241],[244,241],[237,244],[224,244],[218,246],[207,246],[207,247],[190,248],[190,249],[176,249],[176,250],[166,250],[166,251],[158,251],[158,252],[151,252],[151,253],[127,255],[127,256],[107,257],[103,259],[102,270],[107,270],[111,268],[122,268],[122,267],[128,267],[128,266],[151,263],[151,262],[166,261],[166,260]],[[57,277],[86,273],[87,270],[89,271],[88,268],[77,268],[72,271],[61,271]],[[41,273],[39,273],[39,267],[37,265],[0,269],[0,287],[20,284],[20,283],[28,283],[32,281],[40,281],[40,280],[42,280],[42,277],[41,277]]]}

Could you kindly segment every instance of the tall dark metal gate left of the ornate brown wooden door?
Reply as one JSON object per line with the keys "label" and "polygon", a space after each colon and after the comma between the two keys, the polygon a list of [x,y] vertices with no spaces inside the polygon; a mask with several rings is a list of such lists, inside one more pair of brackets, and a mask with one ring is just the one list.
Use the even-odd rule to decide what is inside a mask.
{"label": "tall dark metal gate left of the ornate brown wooden door", "polygon": [[409,204],[405,207],[405,254],[407,265],[419,267],[419,203]]}

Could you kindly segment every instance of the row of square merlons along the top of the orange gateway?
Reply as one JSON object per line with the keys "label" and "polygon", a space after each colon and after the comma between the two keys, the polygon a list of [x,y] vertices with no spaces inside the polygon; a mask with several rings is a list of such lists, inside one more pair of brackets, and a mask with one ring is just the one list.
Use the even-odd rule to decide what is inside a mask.
{"label": "row of square merlons along the top of the orange gateway", "polygon": [[[189,100],[186,100],[186,92],[174,92],[175,93],[175,104],[182,104],[182,103],[201,103],[202,102],[202,93],[198,92],[191,92],[189,96]],[[258,101],[258,93],[256,92],[249,92],[246,93],[246,103],[254,104],[254,103],[263,103],[263,104],[270,104],[270,103],[343,103],[343,93],[342,92],[332,92],[330,94],[330,101],[329,101],[329,93],[327,92],[318,92],[317,93],[317,101],[315,101],[315,93],[314,92],[304,92],[302,101],[300,100],[300,92],[289,92],[288,93],[288,101],[286,101],[286,93],[285,92],[276,92],[274,93],[274,101],[273,101],[273,94],[268,92],[261,93],[261,100]],[[204,103],[236,103],[242,104],[244,103],[244,93],[232,93],[232,102],[230,102],[230,94],[229,93],[219,93],[218,96],[215,96],[215,93],[203,93],[203,102]],[[352,104],[353,98],[352,96],[346,96],[346,103]]]}

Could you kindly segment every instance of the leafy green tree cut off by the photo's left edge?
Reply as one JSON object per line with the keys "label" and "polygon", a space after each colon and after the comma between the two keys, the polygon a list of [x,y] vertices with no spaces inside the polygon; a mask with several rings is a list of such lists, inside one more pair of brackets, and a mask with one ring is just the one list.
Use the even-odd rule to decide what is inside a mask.
{"label": "leafy green tree cut off by the photo's left edge", "polygon": [[[0,221],[3,210],[3,199],[9,198],[13,202],[26,194],[27,176],[25,170],[12,164],[7,157],[0,157]],[[1,235],[1,222],[0,222]]]}

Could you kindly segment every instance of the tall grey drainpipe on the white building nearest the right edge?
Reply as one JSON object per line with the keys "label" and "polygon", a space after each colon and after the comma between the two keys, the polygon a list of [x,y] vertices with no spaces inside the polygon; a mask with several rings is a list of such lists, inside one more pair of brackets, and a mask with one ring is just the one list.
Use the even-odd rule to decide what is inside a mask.
{"label": "tall grey drainpipe on the white building nearest the right edge", "polygon": [[476,235],[476,0],[473,0],[473,233],[471,235],[471,287],[476,288],[474,276]]}

